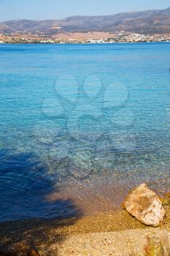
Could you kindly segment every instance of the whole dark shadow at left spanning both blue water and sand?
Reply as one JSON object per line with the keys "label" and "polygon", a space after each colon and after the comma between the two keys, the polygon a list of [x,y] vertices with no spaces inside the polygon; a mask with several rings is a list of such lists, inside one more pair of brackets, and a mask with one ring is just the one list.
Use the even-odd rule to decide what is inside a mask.
{"label": "whole dark shadow at left spanning both blue water and sand", "polygon": [[[57,244],[69,234],[68,227],[82,216],[80,209],[70,199],[55,200],[53,203],[45,200],[47,193],[53,192],[53,184],[45,179],[47,167],[39,165],[31,157],[31,154],[11,155],[7,151],[0,151],[0,213],[4,217],[4,213],[15,217],[20,211],[26,212],[25,216],[28,214],[28,217],[23,217],[25,220],[1,220],[0,255],[3,256],[4,253],[25,256],[30,249],[36,249],[41,256],[50,256],[50,246],[53,244],[56,246],[55,255],[58,255]],[[40,178],[37,180],[39,173],[43,177],[41,181]],[[41,211],[47,214],[48,209],[54,211],[53,219],[46,219],[43,214],[42,218],[38,218]],[[30,218],[32,212],[34,214]],[[47,215],[49,217],[50,214]]]}

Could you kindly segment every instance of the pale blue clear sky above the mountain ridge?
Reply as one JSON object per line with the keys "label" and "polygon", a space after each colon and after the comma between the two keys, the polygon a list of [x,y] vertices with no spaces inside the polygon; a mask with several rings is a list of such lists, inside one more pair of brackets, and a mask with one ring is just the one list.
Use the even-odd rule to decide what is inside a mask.
{"label": "pale blue clear sky above the mountain ridge", "polygon": [[72,15],[111,15],[117,12],[164,9],[169,0],[0,0],[0,20],[58,19]]}

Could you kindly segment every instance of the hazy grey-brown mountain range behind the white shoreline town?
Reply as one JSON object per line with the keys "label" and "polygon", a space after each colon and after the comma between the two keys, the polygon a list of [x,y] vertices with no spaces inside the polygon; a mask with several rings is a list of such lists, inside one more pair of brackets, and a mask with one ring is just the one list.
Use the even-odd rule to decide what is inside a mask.
{"label": "hazy grey-brown mountain range behind the white shoreline town", "polygon": [[45,34],[63,32],[128,31],[142,34],[170,33],[170,7],[166,10],[123,12],[104,16],[72,16],[61,20],[9,20],[0,23],[0,33]]}

